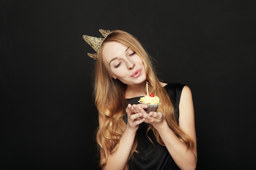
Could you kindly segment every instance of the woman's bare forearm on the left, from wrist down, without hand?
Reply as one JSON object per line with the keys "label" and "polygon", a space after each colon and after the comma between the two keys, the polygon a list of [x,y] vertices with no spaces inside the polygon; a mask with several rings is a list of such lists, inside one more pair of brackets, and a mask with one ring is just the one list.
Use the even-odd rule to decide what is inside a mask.
{"label": "woman's bare forearm on the left, from wrist down, without hand", "polygon": [[135,139],[135,134],[135,130],[126,127],[117,150],[113,154],[108,155],[108,161],[106,165],[101,167],[102,170],[124,170]]}

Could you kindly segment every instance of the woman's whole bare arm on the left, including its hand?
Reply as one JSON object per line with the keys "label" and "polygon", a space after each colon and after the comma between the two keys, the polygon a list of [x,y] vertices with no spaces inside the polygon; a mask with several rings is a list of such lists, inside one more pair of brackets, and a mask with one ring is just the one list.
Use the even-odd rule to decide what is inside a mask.
{"label": "woman's whole bare arm on the left, including its hand", "polygon": [[[139,124],[144,121],[144,118],[139,118],[142,116],[142,113],[134,114],[131,108],[131,104],[128,104],[126,108],[128,122],[126,129],[124,130],[124,133],[119,141],[119,147],[113,154],[108,155],[108,161],[106,165],[101,167],[102,170],[124,170],[124,167],[130,155],[133,141],[135,139],[136,131],[139,128]],[[102,123],[103,119],[101,116],[99,116],[99,125],[101,125]],[[100,155],[102,159],[104,153],[101,148]]]}

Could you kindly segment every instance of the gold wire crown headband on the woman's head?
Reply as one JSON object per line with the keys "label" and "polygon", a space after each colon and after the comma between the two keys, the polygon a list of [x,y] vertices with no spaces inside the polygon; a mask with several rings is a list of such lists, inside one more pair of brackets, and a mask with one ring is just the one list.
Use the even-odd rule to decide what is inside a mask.
{"label": "gold wire crown headband on the woman's head", "polygon": [[91,37],[89,35],[83,35],[83,39],[96,51],[97,53],[91,54],[87,53],[89,57],[92,57],[94,60],[98,60],[99,56],[99,49],[101,48],[102,42],[105,40],[105,38],[108,36],[108,34],[111,33],[109,30],[103,30],[99,29],[99,32],[103,35],[103,38],[98,37]]}

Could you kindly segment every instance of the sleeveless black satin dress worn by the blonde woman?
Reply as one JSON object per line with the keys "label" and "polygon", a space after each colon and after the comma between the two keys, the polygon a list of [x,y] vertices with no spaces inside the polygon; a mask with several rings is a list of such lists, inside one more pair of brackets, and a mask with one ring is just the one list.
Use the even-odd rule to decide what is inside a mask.
{"label": "sleeveless black satin dress worn by the blonde woman", "polygon": [[[179,103],[182,88],[184,84],[168,83],[164,88],[166,89],[171,102],[173,103],[175,117],[178,122],[179,118]],[[134,97],[127,100],[127,105],[138,104],[140,97]],[[124,117],[127,122],[127,115]],[[154,145],[149,141],[146,136],[148,124],[143,122],[139,125],[136,133],[138,140],[137,150],[139,153],[134,152],[131,159],[128,161],[129,170],[180,170],[180,168],[173,161],[165,146],[160,145],[152,130],[148,132],[148,136],[153,141]]]}

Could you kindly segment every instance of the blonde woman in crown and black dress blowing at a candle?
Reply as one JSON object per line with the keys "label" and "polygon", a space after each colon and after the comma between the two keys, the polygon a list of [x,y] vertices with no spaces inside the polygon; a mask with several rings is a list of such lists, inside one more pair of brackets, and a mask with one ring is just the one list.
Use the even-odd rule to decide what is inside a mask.
{"label": "blonde woman in crown and black dress blowing at a candle", "polygon": [[[121,30],[83,35],[97,52],[94,97],[99,112],[97,143],[102,170],[195,170],[197,164],[191,90],[160,82],[140,42]],[[140,97],[157,95],[157,112],[146,113]]]}

